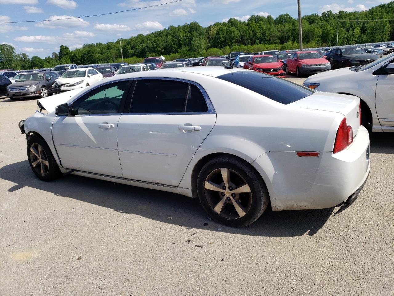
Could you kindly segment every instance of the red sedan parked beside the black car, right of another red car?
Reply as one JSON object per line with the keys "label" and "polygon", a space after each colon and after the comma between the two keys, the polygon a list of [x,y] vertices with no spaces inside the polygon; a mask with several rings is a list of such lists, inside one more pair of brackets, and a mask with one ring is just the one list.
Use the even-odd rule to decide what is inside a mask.
{"label": "red sedan parked beside the black car, right of another red car", "polygon": [[297,73],[297,77],[330,70],[330,62],[317,51],[296,51],[286,60],[286,73]]}

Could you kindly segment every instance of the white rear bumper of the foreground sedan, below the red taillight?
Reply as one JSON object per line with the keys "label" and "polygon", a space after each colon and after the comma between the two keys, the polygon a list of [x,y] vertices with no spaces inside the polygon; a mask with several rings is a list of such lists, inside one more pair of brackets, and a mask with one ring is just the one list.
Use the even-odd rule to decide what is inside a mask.
{"label": "white rear bumper of the foreground sedan, below the red taillight", "polygon": [[353,202],[370,171],[368,131],[360,126],[353,143],[336,154],[267,152],[252,165],[266,182],[274,211],[331,208],[351,196]]}

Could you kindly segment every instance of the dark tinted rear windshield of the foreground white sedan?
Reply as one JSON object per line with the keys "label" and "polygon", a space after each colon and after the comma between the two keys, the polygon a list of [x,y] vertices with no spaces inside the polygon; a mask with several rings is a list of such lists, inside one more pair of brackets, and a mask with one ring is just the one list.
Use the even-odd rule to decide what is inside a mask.
{"label": "dark tinted rear windshield of the foreground white sedan", "polygon": [[304,88],[293,82],[273,77],[269,74],[258,73],[257,71],[237,71],[220,75],[217,78],[247,88],[284,105],[293,103],[314,93],[313,90]]}

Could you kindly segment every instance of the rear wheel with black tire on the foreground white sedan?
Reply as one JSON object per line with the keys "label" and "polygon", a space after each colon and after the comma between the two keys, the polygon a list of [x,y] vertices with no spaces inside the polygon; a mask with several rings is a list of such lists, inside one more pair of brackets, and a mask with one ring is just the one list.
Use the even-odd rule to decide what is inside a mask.
{"label": "rear wheel with black tire on the foreground white sedan", "polygon": [[[223,188],[221,186],[225,185],[224,178],[221,174],[215,176],[215,172],[217,170],[221,172],[222,169],[227,169],[229,172],[230,180],[227,183],[229,190],[225,190],[225,192],[229,192],[206,189],[206,180],[210,176],[214,176],[216,180],[221,178],[220,180],[223,181],[221,185],[219,185],[220,181],[211,182],[211,184],[219,185],[216,187],[219,190]],[[240,185],[236,183],[240,183]],[[232,191],[235,192],[240,187],[244,187],[243,183],[249,186],[247,193],[232,193]],[[231,184],[235,186],[234,189]],[[197,178],[197,193],[201,205],[208,215],[215,221],[230,227],[245,227],[255,222],[263,214],[269,202],[268,191],[260,174],[246,161],[230,155],[218,156],[204,165]],[[243,216],[238,214],[233,200],[242,206],[243,213],[245,213]],[[218,206],[219,214],[214,210]]]}

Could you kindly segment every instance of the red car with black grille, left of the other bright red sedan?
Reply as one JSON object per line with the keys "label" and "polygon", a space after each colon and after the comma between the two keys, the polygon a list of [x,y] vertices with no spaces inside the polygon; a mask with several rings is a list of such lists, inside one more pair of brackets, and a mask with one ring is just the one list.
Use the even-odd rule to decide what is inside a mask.
{"label": "red car with black grille, left of the other bright red sedan", "polygon": [[255,70],[281,78],[284,77],[283,63],[278,62],[269,54],[260,54],[249,57],[245,64],[243,64],[243,69]]}

